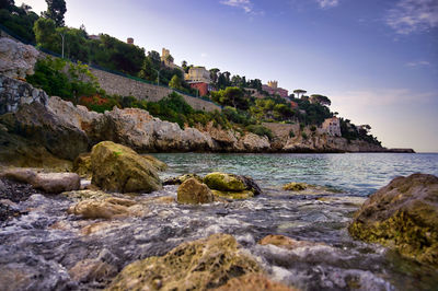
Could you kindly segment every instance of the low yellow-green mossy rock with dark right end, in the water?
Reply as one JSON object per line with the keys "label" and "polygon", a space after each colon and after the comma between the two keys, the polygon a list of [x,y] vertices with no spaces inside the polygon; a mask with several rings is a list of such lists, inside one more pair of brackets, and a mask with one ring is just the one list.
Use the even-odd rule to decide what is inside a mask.
{"label": "low yellow-green mossy rock with dark right end, in the water", "polygon": [[210,173],[205,176],[204,183],[215,196],[223,198],[246,199],[262,193],[252,178],[234,174]]}

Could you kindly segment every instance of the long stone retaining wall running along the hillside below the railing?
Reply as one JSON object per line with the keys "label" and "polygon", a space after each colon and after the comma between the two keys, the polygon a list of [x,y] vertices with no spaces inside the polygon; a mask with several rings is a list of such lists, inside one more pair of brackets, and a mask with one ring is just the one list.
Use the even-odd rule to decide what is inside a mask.
{"label": "long stone retaining wall running along the hillside below the railing", "polygon": [[[148,84],[94,68],[91,68],[91,72],[97,78],[101,88],[105,90],[108,94],[116,94],[120,96],[135,96],[139,100],[157,102],[173,92],[172,89],[165,86]],[[196,98],[184,94],[181,95],[195,109],[206,112],[221,110],[221,107],[214,104],[212,102],[204,101],[201,98]]]}

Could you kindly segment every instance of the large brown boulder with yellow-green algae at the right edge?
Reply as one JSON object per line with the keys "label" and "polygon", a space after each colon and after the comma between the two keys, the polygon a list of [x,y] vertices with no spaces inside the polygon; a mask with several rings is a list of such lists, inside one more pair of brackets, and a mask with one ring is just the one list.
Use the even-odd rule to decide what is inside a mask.
{"label": "large brown boulder with yellow-green algae at the right edge", "polygon": [[438,266],[438,177],[394,178],[368,198],[348,231],[355,238]]}

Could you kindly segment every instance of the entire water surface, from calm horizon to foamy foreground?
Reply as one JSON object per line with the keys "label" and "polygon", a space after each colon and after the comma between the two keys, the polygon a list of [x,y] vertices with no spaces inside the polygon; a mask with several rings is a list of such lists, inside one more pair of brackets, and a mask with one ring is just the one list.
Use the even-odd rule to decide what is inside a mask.
{"label": "entire water surface, from calm horizon to foamy foreground", "polygon": [[[177,186],[170,185],[151,194],[117,195],[134,199],[143,207],[145,214],[112,220],[84,220],[68,214],[73,201],[35,194],[18,206],[27,214],[0,224],[0,290],[103,289],[134,260],[162,256],[181,243],[215,233],[233,235],[270,279],[303,291],[438,290],[437,269],[381,245],[355,241],[347,231],[367,196],[393,177],[417,172],[438,175],[438,154],[155,156],[169,164],[169,170],[160,174],[162,178],[222,171],[253,177],[263,194],[201,206],[150,202],[163,196],[176,198]],[[339,191],[288,193],[281,186],[289,182],[330,186]],[[287,251],[257,243],[269,234],[316,244]],[[90,261],[107,264],[113,271],[97,278],[87,272],[79,279],[72,275],[81,263]],[[9,281],[8,273],[28,278],[27,288],[1,286]]]}

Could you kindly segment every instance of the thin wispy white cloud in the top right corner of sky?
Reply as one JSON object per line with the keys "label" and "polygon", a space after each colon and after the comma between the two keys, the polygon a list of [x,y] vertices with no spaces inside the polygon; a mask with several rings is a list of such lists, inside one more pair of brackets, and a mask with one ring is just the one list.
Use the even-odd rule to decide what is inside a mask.
{"label": "thin wispy white cloud in the top right corner of sky", "polygon": [[387,24],[399,34],[438,27],[437,0],[400,0],[388,12]]}

